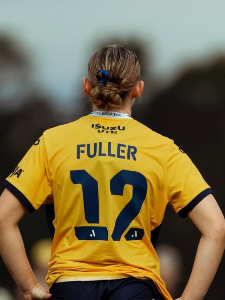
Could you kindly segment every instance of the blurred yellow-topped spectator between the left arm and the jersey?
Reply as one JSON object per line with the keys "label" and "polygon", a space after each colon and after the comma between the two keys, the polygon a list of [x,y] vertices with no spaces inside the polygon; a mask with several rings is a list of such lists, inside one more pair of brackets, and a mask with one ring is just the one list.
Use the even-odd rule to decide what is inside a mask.
{"label": "blurred yellow-topped spectator between the left arm and the jersey", "polygon": [[[45,277],[48,272],[48,262],[51,256],[52,240],[50,238],[43,238],[37,241],[30,251],[30,263],[38,282],[48,289],[45,283]],[[24,300],[19,288],[15,292],[16,300]],[[1,299],[0,297],[0,300]]]}

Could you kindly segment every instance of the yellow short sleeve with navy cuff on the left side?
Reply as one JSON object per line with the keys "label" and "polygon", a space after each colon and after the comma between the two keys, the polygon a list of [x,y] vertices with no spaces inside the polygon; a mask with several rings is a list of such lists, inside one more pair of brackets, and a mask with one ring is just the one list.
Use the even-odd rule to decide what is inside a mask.
{"label": "yellow short sleeve with navy cuff on the left side", "polygon": [[32,212],[52,197],[43,136],[38,139],[6,178],[10,190]]}

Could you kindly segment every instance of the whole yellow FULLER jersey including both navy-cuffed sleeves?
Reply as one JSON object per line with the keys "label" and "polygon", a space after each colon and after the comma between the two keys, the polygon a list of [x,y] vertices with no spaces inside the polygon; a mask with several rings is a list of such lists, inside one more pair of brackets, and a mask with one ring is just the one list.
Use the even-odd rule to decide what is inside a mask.
{"label": "whole yellow FULLER jersey including both navy-cuffed sleeves", "polygon": [[154,248],[165,208],[185,217],[211,193],[172,140],[115,112],[45,131],[4,186],[29,211],[46,204],[49,288],[133,276],[152,279],[165,299]]}

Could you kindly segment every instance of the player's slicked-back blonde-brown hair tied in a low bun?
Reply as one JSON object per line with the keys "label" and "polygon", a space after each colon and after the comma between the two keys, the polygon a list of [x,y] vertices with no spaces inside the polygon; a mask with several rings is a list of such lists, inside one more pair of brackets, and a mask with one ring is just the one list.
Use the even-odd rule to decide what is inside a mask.
{"label": "player's slicked-back blonde-brown hair tied in a low bun", "polygon": [[[98,70],[108,72],[107,81],[99,82],[96,76],[101,79],[104,74],[97,74]],[[139,76],[140,63],[132,50],[121,45],[99,49],[88,62],[91,103],[104,110],[122,107]]]}

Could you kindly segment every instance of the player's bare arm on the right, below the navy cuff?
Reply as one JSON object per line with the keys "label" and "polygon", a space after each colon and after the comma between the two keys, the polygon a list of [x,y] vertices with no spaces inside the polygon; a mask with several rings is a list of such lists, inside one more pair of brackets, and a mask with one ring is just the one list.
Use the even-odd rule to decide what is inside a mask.
{"label": "player's bare arm on the right, below the navy cuff", "polygon": [[[188,216],[202,233],[193,269],[180,300],[202,300],[216,274],[225,247],[225,220],[212,196],[206,196]],[[179,300],[177,299],[177,300]]]}

